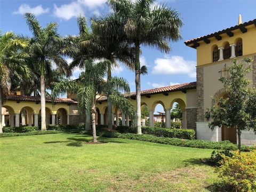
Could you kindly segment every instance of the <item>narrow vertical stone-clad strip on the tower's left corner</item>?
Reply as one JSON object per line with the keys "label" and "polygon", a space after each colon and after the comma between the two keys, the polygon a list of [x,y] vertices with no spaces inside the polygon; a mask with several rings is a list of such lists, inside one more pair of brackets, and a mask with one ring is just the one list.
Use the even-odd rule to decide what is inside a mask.
{"label": "narrow vertical stone-clad strip on the tower's left corner", "polygon": [[196,68],[197,122],[204,122],[204,68]]}

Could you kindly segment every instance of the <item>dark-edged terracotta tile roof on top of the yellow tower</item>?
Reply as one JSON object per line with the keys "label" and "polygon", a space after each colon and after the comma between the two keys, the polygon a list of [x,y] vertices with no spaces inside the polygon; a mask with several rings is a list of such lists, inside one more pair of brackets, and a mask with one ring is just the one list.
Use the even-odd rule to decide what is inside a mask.
{"label": "dark-edged terracotta tile roof on top of the yellow tower", "polygon": [[228,33],[229,31],[233,31],[233,30],[236,30],[236,29],[241,29],[241,28],[244,28],[246,26],[250,26],[250,25],[256,25],[256,19],[254,20],[250,20],[250,21],[247,21],[247,22],[244,22],[240,25],[236,25],[236,26],[233,26],[233,27],[229,27],[227,29],[223,29],[223,30],[219,30],[218,32],[215,32],[215,33],[211,33],[209,35],[205,35],[205,36],[202,36],[202,37],[197,37],[197,38],[193,38],[193,39],[190,39],[188,41],[185,41],[184,43],[186,45],[189,45],[189,44],[192,44],[192,43],[196,43],[196,42],[199,42],[199,41],[203,41],[204,39],[208,39],[208,38],[211,38],[211,37],[215,37],[217,35],[221,35],[221,34],[225,34],[225,33]]}

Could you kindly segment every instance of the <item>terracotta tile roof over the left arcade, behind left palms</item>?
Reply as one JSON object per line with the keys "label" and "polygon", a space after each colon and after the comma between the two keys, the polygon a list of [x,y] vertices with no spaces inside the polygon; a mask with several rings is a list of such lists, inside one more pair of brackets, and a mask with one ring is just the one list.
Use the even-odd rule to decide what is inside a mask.
{"label": "terracotta tile roof over the left arcade, behind left palms", "polygon": [[[8,95],[7,100],[11,101],[34,101],[34,102],[40,102],[40,97],[35,96],[27,96],[27,95]],[[45,98],[45,102],[52,102],[51,98]],[[69,98],[56,98],[56,103],[77,103],[77,101],[69,99]]]}

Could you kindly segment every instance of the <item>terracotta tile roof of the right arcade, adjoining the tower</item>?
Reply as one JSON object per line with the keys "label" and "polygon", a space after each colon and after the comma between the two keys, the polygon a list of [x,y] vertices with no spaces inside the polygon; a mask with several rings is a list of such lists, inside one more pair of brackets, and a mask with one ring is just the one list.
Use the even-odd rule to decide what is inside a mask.
{"label": "terracotta tile roof of the right arcade, adjoining the tower", "polygon": [[[161,93],[170,93],[170,92],[175,92],[175,91],[186,91],[186,90],[191,90],[191,89],[196,89],[196,82],[190,82],[190,83],[183,83],[183,84],[178,84],[178,85],[171,85],[171,86],[165,86],[165,87],[159,87],[156,89],[150,89],[150,90],[144,90],[141,91],[141,96],[147,96],[147,95],[152,95],[152,94],[161,94]],[[129,95],[124,94],[125,97],[132,97],[134,98],[136,96],[136,92],[131,92]],[[106,101],[107,97],[103,96],[99,98],[98,101]]]}

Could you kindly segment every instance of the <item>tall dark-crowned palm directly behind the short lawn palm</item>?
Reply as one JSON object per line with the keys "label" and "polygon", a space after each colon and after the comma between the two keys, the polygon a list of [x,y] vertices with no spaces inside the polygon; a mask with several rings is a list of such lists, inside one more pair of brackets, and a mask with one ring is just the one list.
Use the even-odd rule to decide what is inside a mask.
{"label": "tall dark-crowned palm directly behind the short lawn palm", "polygon": [[[92,31],[89,33],[88,27],[86,25],[86,20],[84,17],[78,17],[78,27],[79,27],[79,49],[83,52],[77,54],[78,58],[84,59],[93,58],[100,60],[109,60],[109,66],[107,70],[107,81],[111,79],[111,70],[113,67],[118,67],[117,61],[123,62],[128,68],[133,69],[133,63],[131,62],[134,58],[134,49],[124,42],[124,38],[118,34],[113,34],[113,31],[102,31],[98,30],[98,26],[101,23],[105,23],[108,17],[103,18],[92,18],[91,27]],[[118,36],[118,38],[116,38]],[[123,35],[124,36],[124,35]],[[75,59],[76,62],[71,63],[72,67],[81,66],[83,62],[81,60]],[[108,128],[112,128],[112,103],[108,98]]]}

